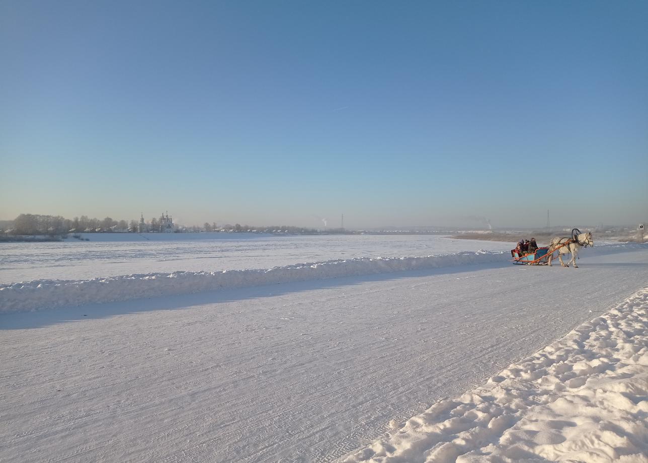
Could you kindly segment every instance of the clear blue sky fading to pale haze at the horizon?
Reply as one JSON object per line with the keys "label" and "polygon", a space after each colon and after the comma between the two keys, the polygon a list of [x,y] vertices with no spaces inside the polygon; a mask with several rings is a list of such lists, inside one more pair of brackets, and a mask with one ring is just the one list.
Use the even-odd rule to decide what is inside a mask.
{"label": "clear blue sky fading to pale haze at the horizon", "polygon": [[648,219],[646,1],[0,0],[0,219]]}

